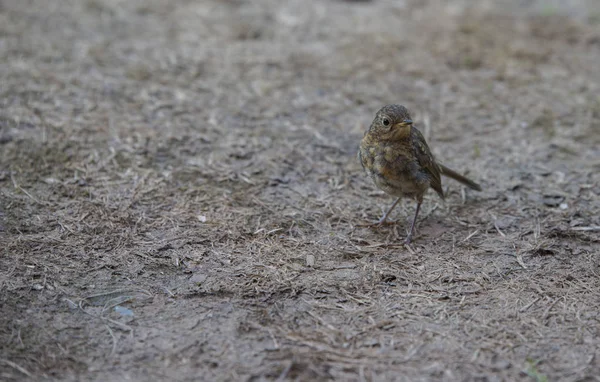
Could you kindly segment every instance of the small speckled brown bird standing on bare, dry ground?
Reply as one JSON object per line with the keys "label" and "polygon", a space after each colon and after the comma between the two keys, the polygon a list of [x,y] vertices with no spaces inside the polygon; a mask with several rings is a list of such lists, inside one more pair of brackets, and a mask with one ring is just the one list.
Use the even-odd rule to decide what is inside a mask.
{"label": "small speckled brown bird standing on bare, dry ground", "polygon": [[429,188],[444,199],[441,176],[447,176],[472,190],[481,186],[456,171],[439,163],[423,134],[413,126],[408,109],[402,105],[386,105],[377,111],[373,122],[363,136],[358,159],[375,185],[385,193],[397,197],[379,221],[363,226],[382,226],[400,199],[417,202],[415,216],[405,239],[410,244],[423,195]]}

